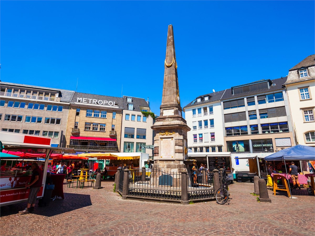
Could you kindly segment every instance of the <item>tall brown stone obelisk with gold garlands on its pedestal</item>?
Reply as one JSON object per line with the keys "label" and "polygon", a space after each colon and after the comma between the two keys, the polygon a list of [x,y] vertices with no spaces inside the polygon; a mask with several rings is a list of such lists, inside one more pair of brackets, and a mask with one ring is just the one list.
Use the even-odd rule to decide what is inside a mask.
{"label": "tall brown stone obelisk with gold garlands on its pedestal", "polygon": [[169,25],[164,61],[164,81],[160,116],[154,130],[154,168],[167,172],[186,170],[187,132],[190,128],[182,117],[177,77],[173,26]]}

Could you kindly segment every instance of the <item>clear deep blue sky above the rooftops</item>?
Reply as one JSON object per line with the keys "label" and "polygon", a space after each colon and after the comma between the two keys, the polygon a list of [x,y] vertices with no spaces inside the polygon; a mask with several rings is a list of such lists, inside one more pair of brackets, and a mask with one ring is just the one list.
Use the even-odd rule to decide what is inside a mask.
{"label": "clear deep blue sky above the rooftops", "polygon": [[314,54],[314,1],[1,1],[1,81],[149,97],[159,115],[168,25],[181,106],[288,75]]}

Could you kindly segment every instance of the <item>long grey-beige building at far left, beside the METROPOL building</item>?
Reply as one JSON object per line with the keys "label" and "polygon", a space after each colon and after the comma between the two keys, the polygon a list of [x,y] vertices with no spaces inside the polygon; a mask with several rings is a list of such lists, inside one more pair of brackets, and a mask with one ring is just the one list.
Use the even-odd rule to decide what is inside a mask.
{"label": "long grey-beige building at far left, beside the METROPOL building", "polygon": [[65,147],[69,103],[74,91],[0,82],[2,131],[52,138]]}

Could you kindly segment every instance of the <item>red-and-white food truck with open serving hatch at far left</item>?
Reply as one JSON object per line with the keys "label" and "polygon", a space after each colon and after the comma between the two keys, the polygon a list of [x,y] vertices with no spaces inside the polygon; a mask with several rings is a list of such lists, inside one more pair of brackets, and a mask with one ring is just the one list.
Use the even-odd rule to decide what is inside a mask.
{"label": "red-and-white food truck with open serving hatch at far left", "polygon": [[25,185],[30,182],[32,172],[29,166],[34,161],[44,164],[42,187],[37,194],[37,198],[42,198],[49,157],[53,152],[74,151],[69,148],[51,147],[51,138],[37,135],[0,131],[0,138],[3,145],[0,153],[0,206],[27,200],[29,189],[25,188]]}

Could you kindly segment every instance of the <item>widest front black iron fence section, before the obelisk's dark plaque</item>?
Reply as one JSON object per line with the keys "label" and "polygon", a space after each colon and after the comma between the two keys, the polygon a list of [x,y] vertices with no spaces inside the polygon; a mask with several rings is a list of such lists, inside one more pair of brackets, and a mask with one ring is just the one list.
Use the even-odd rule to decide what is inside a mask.
{"label": "widest front black iron fence section, before the obelisk's dark plaque", "polygon": [[129,170],[128,195],[180,200],[180,183],[181,173],[157,168]]}

